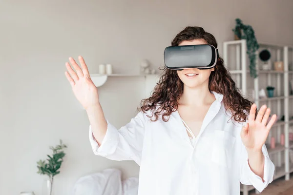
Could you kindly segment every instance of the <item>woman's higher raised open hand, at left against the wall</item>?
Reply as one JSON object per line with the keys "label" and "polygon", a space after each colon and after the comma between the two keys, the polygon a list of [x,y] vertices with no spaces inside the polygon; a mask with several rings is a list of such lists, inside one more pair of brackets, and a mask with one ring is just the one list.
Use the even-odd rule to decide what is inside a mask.
{"label": "woman's higher raised open hand, at left against the wall", "polygon": [[69,58],[69,61],[76,72],[71,68],[68,62],[65,63],[68,70],[68,72],[65,71],[65,76],[71,84],[75,97],[83,105],[84,109],[88,109],[100,104],[98,89],[89,76],[83,57],[79,56],[78,59],[81,67],[73,58]]}

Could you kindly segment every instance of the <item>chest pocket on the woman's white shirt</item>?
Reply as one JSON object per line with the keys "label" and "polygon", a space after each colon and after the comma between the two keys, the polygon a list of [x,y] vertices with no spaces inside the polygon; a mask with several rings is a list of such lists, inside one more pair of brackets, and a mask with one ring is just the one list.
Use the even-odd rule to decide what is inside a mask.
{"label": "chest pocket on the woman's white shirt", "polygon": [[229,132],[214,130],[212,134],[200,137],[196,157],[221,167],[230,168],[233,161],[235,137]]}

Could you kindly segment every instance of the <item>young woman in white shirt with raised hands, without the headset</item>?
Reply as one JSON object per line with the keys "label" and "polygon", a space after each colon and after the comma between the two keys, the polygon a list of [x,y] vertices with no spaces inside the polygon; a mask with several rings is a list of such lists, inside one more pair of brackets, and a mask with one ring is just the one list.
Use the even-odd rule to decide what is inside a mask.
{"label": "young woman in white shirt with raised hands, without the headset", "polygon": [[[215,38],[201,27],[186,27],[176,45],[209,44]],[[272,182],[274,165],[265,140],[276,116],[239,93],[217,59],[212,69],[164,69],[140,112],[117,130],[105,119],[98,91],[84,59],[65,72],[86,109],[93,152],[140,165],[139,195],[239,195],[240,182],[258,191]]]}

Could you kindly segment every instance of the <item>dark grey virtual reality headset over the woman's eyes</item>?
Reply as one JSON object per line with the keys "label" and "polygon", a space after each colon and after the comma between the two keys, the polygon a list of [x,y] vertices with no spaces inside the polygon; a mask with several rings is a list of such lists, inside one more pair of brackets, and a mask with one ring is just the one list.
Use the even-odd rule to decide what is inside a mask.
{"label": "dark grey virtual reality headset over the woman's eyes", "polygon": [[209,69],[216,65],[218,49],[212,45],[169,46],[164,51],[164,63],[168,69]]}

